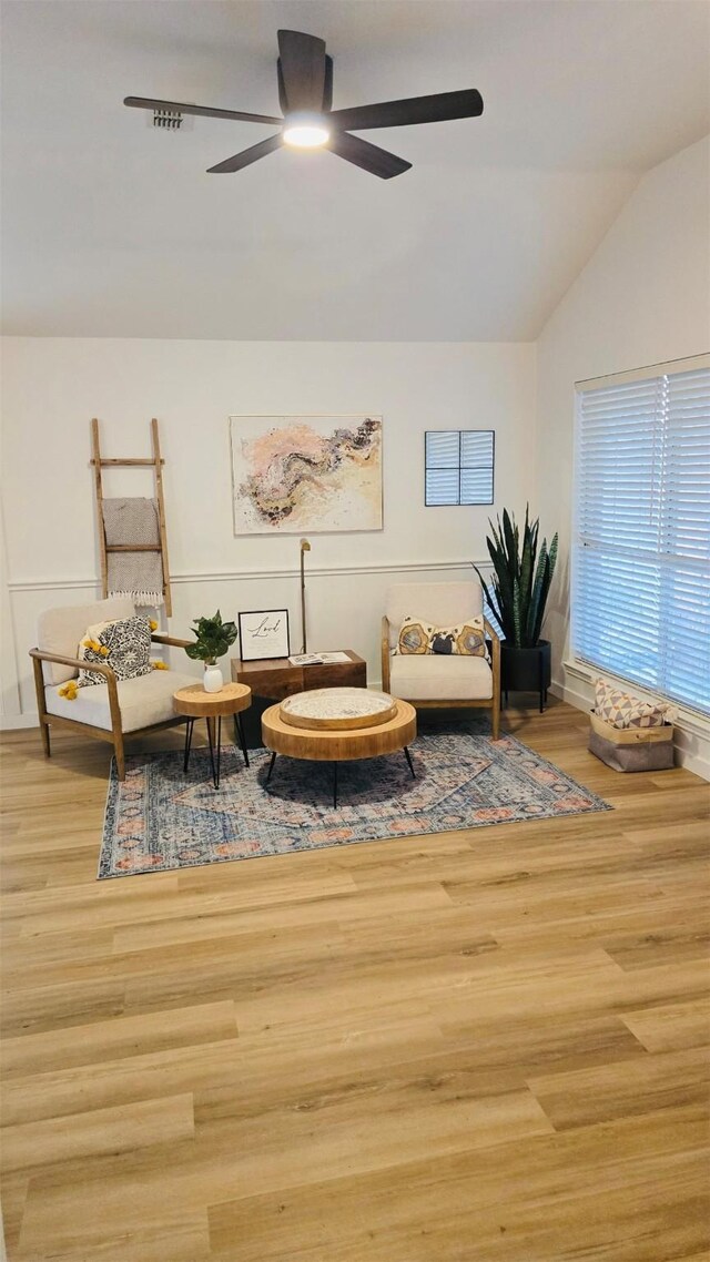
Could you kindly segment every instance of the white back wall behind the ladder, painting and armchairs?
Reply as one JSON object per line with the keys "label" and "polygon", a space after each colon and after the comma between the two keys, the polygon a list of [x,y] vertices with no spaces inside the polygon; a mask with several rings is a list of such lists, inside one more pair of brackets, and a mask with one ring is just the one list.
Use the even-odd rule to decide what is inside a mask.
{"label": "white back wall behind the ladder, painting and armchairs", "polygon": [[[106,456],[148,456],[159,418],[173,632],[217,604],[225,616],[288,607],[298,650],[298,536],[234,536],[227,416],[382,413],[384,530],[312,535],[307,558],[308,647],[355,649],[373,681],[385,588],[470,575],[485,554],[490,507],[423,506],[424,430],[494,429],[496,507],[524,509],[533,492],[533,345],[6,338],[3,356],[8,726],[32,722],[37,613],[96,592],[93,415]],[[150,493],[143,471],[110,476],[109,492]]]}

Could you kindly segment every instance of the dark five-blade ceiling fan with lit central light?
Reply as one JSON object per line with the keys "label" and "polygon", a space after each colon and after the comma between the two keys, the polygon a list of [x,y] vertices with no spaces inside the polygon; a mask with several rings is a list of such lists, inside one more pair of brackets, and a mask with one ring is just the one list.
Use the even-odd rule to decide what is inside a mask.
{"label": "dark five-blade ceiling fan with lit central light", "polygon": [[126,96],[124,105],[138,110],[196,114],[208,119],[273,122],[279,127],[274,136],[210,167],[212,174],[241,170],[286,143],[302,149],[330,149],[339,158],[345,158],[345,162],[354,163],[380,179],[400,175],[409,170],[412,163],[351,135],[351,131],[402,127],[414,122],[445,122],[448,119],[472,119],[483,114],[483,98],[475,88],[413,96],[403,101],[380,101],[378,105],[359,105],[351,110],[331,110],[332,58],[326,54],[325,40],[304,35],[299,30],[279,30],[278,44],[278,92],[283,119],[239,110],[212,110],[206,105],[154,101],[144,96]]}

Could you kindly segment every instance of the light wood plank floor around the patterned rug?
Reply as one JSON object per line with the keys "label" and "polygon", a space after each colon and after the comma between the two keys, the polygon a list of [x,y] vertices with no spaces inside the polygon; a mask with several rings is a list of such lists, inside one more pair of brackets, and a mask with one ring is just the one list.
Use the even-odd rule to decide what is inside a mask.
{"label": "light wood plank floor around the patterned rug", "polygon": [[10,1262],[710,1257],[709,786],[508,718],[615,810],[100,883],[4,738]]}

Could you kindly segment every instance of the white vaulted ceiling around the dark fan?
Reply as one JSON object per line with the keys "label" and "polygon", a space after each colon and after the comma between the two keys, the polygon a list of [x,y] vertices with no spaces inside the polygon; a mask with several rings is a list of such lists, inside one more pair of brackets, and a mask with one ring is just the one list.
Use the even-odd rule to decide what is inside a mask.
{"label": "white vaulted ceiling around the dark fan", "polygon": [[[641,174],[710,130],[704,0],[8,0],[4,331],[534,338]],[[153,131],[126,95],[278,114],[277,29],[334,107],[478,87],[481,119],[206,168],[273,129]]]}

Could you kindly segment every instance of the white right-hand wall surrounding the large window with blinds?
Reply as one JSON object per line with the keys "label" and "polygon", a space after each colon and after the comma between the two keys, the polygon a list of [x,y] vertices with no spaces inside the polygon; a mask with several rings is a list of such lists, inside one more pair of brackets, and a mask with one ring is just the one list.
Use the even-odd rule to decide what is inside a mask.
{"label": "white right-hand wall surrounding the large window with blinds", "polygon": [[[569,548],[575,381],[699,355],[710,347],[710,138],[642,179],[546,324],[538,347],[537,502],[561,536],[546,634],[553,679],[576,704],[589,689],[569,658]],[[697,770],[707,748],[683,737]]]}

